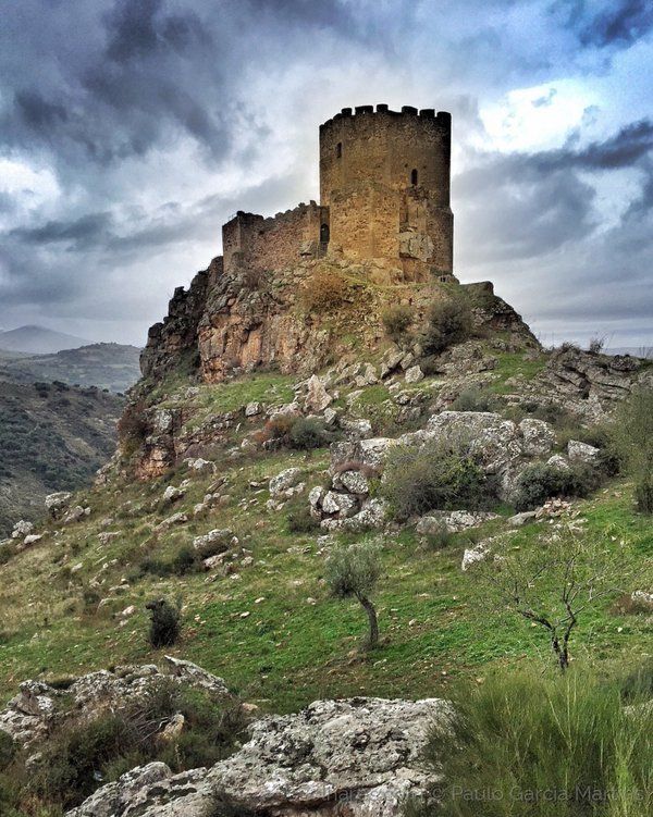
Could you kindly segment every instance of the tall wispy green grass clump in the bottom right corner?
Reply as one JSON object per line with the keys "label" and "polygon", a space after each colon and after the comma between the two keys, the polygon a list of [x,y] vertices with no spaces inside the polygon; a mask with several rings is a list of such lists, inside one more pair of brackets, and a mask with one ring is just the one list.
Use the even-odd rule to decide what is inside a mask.
{"label": "tall wispy green grass clump in the bottom right corner", "polygon": [[[492,674],[453,695],[426,762],[443,776],[442,817],[646,817],[653,708],[637,717],[616,684],[583,672]],[[415,805],[412,815],[431,807]]]}

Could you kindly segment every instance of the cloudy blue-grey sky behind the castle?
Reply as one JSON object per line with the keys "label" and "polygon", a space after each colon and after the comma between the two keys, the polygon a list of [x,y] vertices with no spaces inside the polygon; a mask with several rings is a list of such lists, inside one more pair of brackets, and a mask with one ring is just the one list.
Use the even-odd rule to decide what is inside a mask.
{"label": "cloudy blue-grey sky behind the castle", "polygon": [[0,327],[145,342],[318,125],[449,110],[455,271],[546,343],[653,345],[650,0],[3,0]]}

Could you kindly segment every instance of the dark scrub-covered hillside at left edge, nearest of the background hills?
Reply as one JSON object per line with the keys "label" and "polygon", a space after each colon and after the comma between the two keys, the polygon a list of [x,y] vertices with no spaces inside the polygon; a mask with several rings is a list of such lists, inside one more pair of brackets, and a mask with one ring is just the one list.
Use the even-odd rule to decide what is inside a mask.
{"label": "dark scrub-covered hillside at left edge, nearest of the background hills", "polygon": [[89,484],[115,447],[123,399],[63,383],[0,388],[0,539],[44,515],[54,491]]}

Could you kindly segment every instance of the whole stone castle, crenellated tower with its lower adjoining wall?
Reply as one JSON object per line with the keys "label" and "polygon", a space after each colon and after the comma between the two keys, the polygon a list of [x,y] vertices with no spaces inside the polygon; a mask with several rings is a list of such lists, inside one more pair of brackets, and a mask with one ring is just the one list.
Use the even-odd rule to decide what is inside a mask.
{"label": "whole stone castle, crenellated tower with its lower adjoining wall", "polygon": [[453,274],[449,113],[344,108],[320,126],[320,203],[222,227],[224,270],[333,255],[385,262],[406,282]]}

